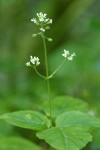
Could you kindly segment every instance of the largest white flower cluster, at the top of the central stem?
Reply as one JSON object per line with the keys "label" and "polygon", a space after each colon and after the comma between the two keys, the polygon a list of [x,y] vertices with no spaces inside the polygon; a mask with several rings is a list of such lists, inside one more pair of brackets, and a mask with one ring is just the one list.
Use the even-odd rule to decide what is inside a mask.
{"label": "largest white flower cluster, at the top of the central stem", "polygon": [[40,31],[45,32],[46,29],[50,29],[49,24],[52,24],[52,19],[46,18],[47,14],[43,14],[42,12],[37,13],[37,18],[32,18],[31,21],[36,25],[40,26]]}

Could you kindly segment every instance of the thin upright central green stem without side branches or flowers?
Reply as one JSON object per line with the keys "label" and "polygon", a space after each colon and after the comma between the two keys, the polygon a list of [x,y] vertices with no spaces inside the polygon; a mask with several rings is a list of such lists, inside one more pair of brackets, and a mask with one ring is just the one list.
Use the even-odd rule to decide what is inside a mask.
{"label": "thin upright central green stem without side branches or flowers", "polygon": [[[44,34],[41,33],[42,39],[43,39],[43,45],[44,45],[44,55],[45,55],[45,64],[46,64],[46,77],[48,79],[49,77],[49,71],[48,71],[48,60],[47,60],[47,48],[46,48],[46,42],[44,38]],[[50,121],[51,121],[51,126],[52,126],[52,112],[51,112],[51,99],[50,99],[50,82],[49,79],[47,81],[47,88],[48,88],[48,101],[49,101],[49,106],[50,106]]]}

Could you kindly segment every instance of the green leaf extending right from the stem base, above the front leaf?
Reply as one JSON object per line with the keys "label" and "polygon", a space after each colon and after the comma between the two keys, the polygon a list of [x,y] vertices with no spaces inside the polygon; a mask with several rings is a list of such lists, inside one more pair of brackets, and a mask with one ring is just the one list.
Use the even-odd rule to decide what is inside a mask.
{"label": "green leaf extending right from the stem base, above the front leaf", "polygon": [[58,127],[100,127],[100,119],[87,113],[70,111],[59,115],[56,125]]}

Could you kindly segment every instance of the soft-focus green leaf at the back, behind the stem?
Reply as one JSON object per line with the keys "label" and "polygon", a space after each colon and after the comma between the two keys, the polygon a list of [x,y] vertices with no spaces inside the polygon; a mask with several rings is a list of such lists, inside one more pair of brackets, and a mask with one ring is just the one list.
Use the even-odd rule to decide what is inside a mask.
{"label": "soft-focus green leaf at the back, behind the stem", "polygon": [[[86,112],[88,105],[84,101],[72,97],[60,96],[51,100],[52,105],[52,116],[57,117],[58,115],[71,110],[80,110]],[[41,105],[42,106],[42,105]],[[50,108],[46,101],[43,105],[44,111],[49,116]],[[42,109],[43,109],[42,108]]]}

